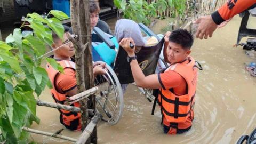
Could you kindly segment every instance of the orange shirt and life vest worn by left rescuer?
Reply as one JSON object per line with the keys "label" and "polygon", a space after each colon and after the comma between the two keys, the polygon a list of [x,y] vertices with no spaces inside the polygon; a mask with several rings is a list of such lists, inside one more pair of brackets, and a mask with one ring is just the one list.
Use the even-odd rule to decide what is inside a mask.
{"label": "orange shirt and life vest worn by left rescuer", "polygon": [[[51,89],[51,94],[56,103],[64,104],[66,98],[69,95],[66,94],[67,91],[74,89],[76,85],[76,73],[75,73],[75,63],[68,60],[60,60],[58,61],[60,65],[64,69],[64,73],[59,73],[58,70],[47,63],[46,71],[48,73],[48,77],[50,78],[53,89]],[[79,103],[75,102],[70,106],[79,107]],[[81,114],[74,113],[67,110],[59,109],[60,111],[60,122],[67,129],[70,130],[80,130],[81,129]]]}

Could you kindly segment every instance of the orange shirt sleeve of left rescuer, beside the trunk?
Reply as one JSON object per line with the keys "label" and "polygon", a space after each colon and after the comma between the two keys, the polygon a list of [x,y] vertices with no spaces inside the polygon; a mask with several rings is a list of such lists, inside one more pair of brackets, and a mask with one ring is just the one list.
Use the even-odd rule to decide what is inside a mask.
{"label": "orange shirt sleeve of left rescuer, beside the trunk", "polygon": [[65,68],[63,74],[59,74],[55,78],[56,86],[63,92],[74,89],[76,85],[76,71],[71,68]]}

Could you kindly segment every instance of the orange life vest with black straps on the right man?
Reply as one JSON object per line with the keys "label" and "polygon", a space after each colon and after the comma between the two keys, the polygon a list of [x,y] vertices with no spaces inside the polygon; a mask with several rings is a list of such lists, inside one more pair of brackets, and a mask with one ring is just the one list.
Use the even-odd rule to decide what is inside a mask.
{"label": "orange life vest with black straps on the right man", "polygon": [[176,95],[173,89],[160,89],[158,95],[158,103],[161,106],[162,115],[170,123],[183,123],[189,116],[192,117],[191,120],[194,118],[194,113],[191,113],[191,109],[195,102],[197,68],[193,58],[189,57],[188,61],[188,63],[187,61],[175,63],[166,69],[167,71],[175,71],[185,79],[187,82],[187,94]]}

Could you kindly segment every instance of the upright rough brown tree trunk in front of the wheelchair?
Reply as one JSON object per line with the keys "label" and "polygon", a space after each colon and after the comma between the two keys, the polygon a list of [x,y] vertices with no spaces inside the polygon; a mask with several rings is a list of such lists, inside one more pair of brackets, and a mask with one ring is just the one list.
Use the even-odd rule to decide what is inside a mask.
{"label": "upright rough brown tree trunk in front of the wheelchair", "polygon": [[[79,36],[87,36],[74,39],[77,87],[79,92],[83,92],[94,86],[91,37],[89,37],[91,36],[89,0],[71,0],[70,3],[73,33]],[[89,99],[89,108],[95,109],[95,98],[91,96]],[[80,106],[82,130],[84,130],[88,123],[87,100],[83,99],[80,101]],[[97,143],[97,127],[95,127],[92,133],[91,142]]]}

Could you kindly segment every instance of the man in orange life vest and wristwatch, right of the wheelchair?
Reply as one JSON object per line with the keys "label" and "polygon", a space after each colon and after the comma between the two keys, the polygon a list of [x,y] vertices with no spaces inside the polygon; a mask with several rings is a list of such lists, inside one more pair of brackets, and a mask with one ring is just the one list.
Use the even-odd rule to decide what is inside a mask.
{"label": "man in orange life vest and wristwatch, right of the wheelchair", "polygon": [[[180,134],[188,131],[194,119],[194,100],[197,83],[195,60],[189,56],[193,36],[183,29],[168,31],[165,35],[164,53],[171,65],[163,73],[145,76],[130,48],[132,38],[123,38],[119,43],[127,52],[132,75],[137,86],[159,89],[158,103],[161,106],[164,133]],[[166,51],[165,51],[166,50]]]}

